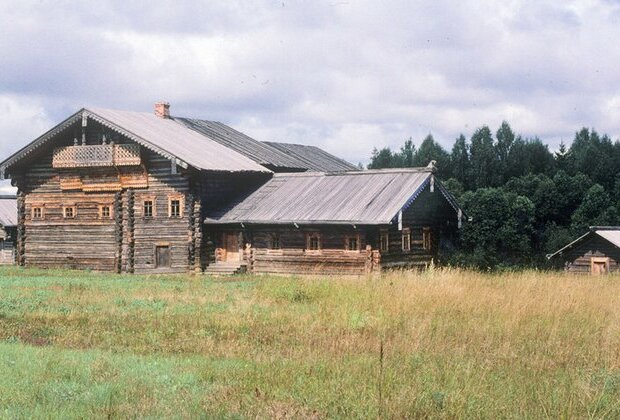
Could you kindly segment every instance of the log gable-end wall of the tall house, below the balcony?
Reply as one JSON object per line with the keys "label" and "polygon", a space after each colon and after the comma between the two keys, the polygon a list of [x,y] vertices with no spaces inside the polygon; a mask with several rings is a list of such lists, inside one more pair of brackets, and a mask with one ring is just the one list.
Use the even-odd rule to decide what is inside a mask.
{"label": "log gable-end wall of the tall house, below the balcony", "polygon": [[[96,130],[88,132],[88,144],[98,141],[92,131]],[[71,145],[72,138],[69,133],[55,146]],[[112,272],[187,271],[191,211],[183,208],[180,217],[169,217],[169,199],[185,206],[189,177],[180,168],[173,171],[170,160],[145,149],[141,167],[122,170],[54,169],[52,148],[39,150],[34,163],[24,165],[14,177],[22,221],[17,261]],[[145,199],[154,202],[153,217],[143,215]],[[110,208],[110,217],[101,217],[101,206]],[[42,218],[33,217],[35,207],[42,209]],[[73,208],[73,217],[66,217],[65,207]],[[155,266],[158,245],[169,247],[169,267]]]}

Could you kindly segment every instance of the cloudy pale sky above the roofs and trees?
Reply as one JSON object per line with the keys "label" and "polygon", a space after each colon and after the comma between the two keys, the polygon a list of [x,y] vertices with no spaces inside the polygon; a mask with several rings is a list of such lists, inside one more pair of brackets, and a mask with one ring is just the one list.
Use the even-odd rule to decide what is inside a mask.
{"label": "cloudy pale sky above the roofs and trees", "polygon": [[502,120],[620,134],[620,1],[0,0],[0,160],[84,106],[214,119],[351,162]]}

